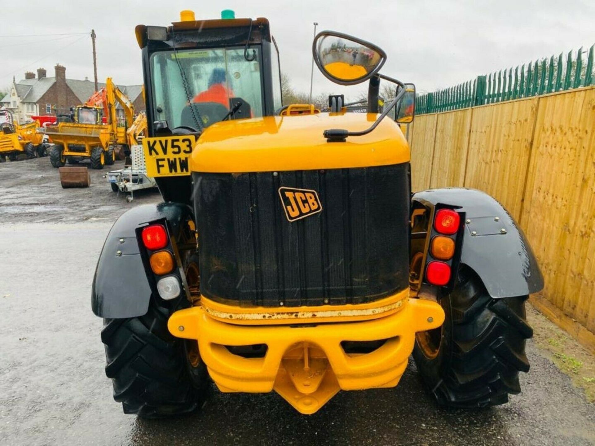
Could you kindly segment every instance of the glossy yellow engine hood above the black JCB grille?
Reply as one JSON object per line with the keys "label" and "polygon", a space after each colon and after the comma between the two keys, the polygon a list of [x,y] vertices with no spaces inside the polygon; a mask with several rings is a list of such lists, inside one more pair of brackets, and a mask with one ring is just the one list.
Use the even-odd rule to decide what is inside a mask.
{"label": "glossy yellow engine hood above the black JCB grille", "polygon": [[195,172],[268,172],[372,167],[409,162],[400,128],[384,118],[365,136],[329,143],[328,128],[365,130],[376,114],[320,113],[225,121],[207,128],[190,158]]}

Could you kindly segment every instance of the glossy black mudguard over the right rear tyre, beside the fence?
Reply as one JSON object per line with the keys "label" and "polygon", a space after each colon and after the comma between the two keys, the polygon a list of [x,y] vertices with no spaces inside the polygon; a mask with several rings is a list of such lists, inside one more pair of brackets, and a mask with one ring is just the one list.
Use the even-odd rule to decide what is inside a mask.
{"label": "glossy black mudguard over the right rear tyre, beside the fence", "polygon": [[543,288],[543,275],[525,234],[488,194],[474,189],[430,189],[412,199],[465,212],[461,263],[479,275],[491,297],[525,296]]}

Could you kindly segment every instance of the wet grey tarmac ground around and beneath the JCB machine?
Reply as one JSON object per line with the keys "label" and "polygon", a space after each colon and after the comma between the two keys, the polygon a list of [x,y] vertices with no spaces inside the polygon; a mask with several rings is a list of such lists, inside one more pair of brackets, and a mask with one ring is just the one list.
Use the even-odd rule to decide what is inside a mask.
{"label": "wet grey tarmac ground around and beneath the JCB machine", "polygon": [[[411,363],[398,387],[340,392],[312,416],[275,393],[217,390],[189,416],[124,415],[105,377],[102,321],[90,310],[90,287],[111,222],[158,196],[127,203],[98,171],[91,188],[62,190],[57,170],[35,165],[42,162],[49,165],[0,164],[0,444],[595,444],[595,404],[531,340],[522,394],[487,410],[440,409]],[[19,175],[7,178],[9,171]]]}

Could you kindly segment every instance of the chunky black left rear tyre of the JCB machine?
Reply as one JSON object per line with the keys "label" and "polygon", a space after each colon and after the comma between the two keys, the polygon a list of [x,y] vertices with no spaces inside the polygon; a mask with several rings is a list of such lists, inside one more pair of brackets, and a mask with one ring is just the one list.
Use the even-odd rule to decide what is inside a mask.
{"label": "chunky black left rear tyre of the JCB machine", "polygon": [[167,310],[149,305],[144,316],[105,319],[105,373],[124,413],[160,418],[193,412],[204,389],[187,372],[183,340],[167,330]]}

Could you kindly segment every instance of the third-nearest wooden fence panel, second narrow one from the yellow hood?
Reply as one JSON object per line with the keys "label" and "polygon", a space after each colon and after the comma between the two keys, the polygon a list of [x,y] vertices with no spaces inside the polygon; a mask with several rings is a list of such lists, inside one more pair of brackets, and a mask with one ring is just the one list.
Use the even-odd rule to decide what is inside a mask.
{"label": "third-nearest wooden fence panel, second narrow one from the yellow hood", "polygon": [[470,125],[471,108],[438,115],[430,187],[464,186]]}

